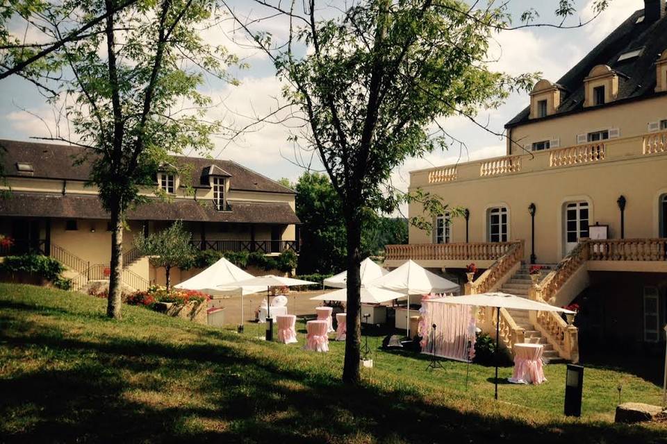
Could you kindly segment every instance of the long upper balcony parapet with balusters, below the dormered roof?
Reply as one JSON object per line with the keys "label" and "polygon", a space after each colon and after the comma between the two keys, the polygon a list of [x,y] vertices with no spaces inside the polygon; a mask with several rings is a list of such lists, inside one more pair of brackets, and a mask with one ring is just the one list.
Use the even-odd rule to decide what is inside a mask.
{"label": "long upper balcony parapet with balusters, below the dormered roof", "polygon": [[667,154],[667,131],[411,171],[411,187],[493,178]]}

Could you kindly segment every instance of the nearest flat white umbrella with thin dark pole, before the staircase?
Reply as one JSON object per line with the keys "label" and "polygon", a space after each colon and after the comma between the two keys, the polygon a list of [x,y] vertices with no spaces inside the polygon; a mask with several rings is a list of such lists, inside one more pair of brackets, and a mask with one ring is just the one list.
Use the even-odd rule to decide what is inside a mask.
{"label": "nearest flat white umbrella with thin dark pole, before the staircase", "polygon": [[[498,352],[499,345],[499,330],[500,330],[500,309],[513,309],[513,310],[530,310],[530,311],[558,311],[560,313],[573,314],[574,311],[570,311],[560,307],[554,307],[553,305],[545,304],[543,302],[537,302],[535,300],[529,300],[526,298],[520,298],[519,296],[514,296],[508,293],[481,293],[481,294],[470,294],[466,296],[447,296],[445,298],[436,298],[429,299],[429,302],[440,302],[443,304],[454,304],[454,305],[475,305],[476,307],[493,307],[496,309],[496,320],[495,320],[495,353]],[[498,399],[498,359],[497,355],[495,358],[495,399]]]}

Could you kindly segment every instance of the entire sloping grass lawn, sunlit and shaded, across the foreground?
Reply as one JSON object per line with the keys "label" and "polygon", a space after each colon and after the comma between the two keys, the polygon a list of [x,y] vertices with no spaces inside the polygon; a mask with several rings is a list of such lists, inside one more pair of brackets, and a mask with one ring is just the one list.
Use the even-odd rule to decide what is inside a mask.
{"label": "entire sloping grass lawn, sunlit and shaded, across the foreground", "polygon": [[607,422],[619,378],[627,400],[660,393],[612,370],[586,369],[588,416],[573,420],[557,413],[563,366],[547,366],[543,386],[501,386],[494,402],[491,368],[470,366],[466,392],[465,364],[427,372],[378,352],[347,388],[343,344],[306,353],[138,307],[115,322],[104,302],[0,284],[0,441],[667,442],[664,427]]}

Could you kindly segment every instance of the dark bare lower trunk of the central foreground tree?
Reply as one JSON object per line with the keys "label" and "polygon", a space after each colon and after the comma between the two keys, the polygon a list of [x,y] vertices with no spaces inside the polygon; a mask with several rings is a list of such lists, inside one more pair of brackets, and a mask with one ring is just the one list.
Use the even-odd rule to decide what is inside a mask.
{"label": "dark bare lower trunk of the central foreground tree", "polygon": [[345,336],[345,364],[343,382],[359,384],[361,359],[361,276],[359,249],[361,247],[361,220],[350,217],[347,225],[347,334]]}

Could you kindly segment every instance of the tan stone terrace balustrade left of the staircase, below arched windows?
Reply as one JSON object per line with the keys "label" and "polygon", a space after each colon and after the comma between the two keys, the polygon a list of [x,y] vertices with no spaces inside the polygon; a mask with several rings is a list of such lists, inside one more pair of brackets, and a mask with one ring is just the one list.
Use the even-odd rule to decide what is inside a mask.
{"label": "tan stone terrace balustrade left of the staircase, below arched windows", "polygon": [[519,242],[469,244],[402,244],[386,246],[385,260],[496,260]]}

